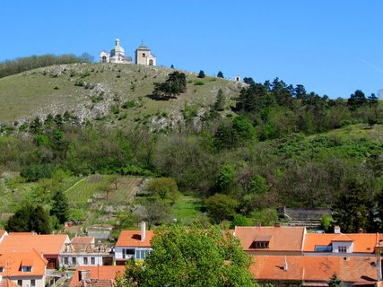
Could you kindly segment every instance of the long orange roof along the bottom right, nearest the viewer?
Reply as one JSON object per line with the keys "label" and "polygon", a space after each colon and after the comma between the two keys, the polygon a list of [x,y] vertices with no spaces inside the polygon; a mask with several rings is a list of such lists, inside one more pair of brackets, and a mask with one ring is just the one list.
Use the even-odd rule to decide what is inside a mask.
{"label": "long orange roof along the bottom right, nearest the viewer", "polygon": [[250,266],[253,278],[278,281],[326,282],[336,273],[344,282],[373,282],[377,280],[376,257],[285,257],[253,256]]}

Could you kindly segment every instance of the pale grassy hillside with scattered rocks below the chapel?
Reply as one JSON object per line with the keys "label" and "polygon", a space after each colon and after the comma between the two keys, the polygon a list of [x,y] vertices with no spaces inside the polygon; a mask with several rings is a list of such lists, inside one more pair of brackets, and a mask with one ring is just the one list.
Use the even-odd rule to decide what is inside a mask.
{"label": "pale grassy hillside with scattered rocks below the chapel", "polygon": [[197,79],[187,74],[187,92],[175,100],[147,97],[153,83],[164,82],[172,69],[158,66],[118,64],[53,65],[0,79],[0,123],[22,123],[34,117],[71,114],[124,126],[147,122],[170,126],[192,106],[196,113],[215,100],[221,88],[236,96],[239,85],[215,77]]}

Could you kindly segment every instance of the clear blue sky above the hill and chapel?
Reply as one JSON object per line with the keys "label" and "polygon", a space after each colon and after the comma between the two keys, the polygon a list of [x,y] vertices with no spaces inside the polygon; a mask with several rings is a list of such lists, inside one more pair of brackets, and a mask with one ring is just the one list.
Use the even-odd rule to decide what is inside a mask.
{"label": "clear blue sky above the hill and chapel", "polygon": [[383,88],[382,0],[4,0],[0,61],[47,53],[96,60],[118,36],[158,65],[256,82],[279,77],[348,98]]}

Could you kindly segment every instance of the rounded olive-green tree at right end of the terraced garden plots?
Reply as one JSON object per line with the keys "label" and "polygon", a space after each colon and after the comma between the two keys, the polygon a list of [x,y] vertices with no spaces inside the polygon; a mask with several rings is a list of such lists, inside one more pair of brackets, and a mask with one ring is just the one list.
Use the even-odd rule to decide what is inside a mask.
{"label": "rounded olive-green tree at right end of the terraced garden plots", "polygon": [[178,196],[177,183],[173,178],[152,178],[144,189],[161,200],[170,199],[174,202]]}

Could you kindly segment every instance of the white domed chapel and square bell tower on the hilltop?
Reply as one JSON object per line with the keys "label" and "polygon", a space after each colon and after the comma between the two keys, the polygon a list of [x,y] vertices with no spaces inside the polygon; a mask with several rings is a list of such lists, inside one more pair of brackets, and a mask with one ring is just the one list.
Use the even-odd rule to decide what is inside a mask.
{"label": "white domed chapel and square bell tower on the hilltop", "polygon": [[[132,64],[132,57],[125,56],[125,49],[119,44],[119,39],[116,39],[116,46],[111,49],[110,54],[104,50],[100,53],[100,63],[118,63]],[[152,55],[151,49],[147,48],[144,43],[135,50],[136,65],[157,65],[157,60]]]}

